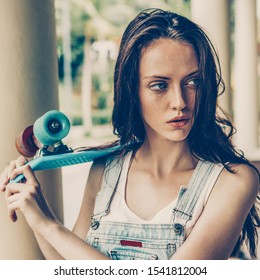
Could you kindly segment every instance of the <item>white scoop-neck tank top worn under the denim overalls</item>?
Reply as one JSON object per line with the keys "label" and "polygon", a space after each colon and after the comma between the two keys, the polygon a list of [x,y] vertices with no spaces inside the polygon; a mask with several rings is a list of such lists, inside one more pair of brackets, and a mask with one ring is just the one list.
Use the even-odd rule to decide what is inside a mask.
{"label": "white scoop-neck tank top worn under the denim overalls", "polygon": [[[132,152],[129,152],[124,160],[121,176],[117,185],[117,191],[110,206],[110,212],[108,215],[102,218],[102,221],[132,224],[171,224],[173,221],[172,210],[176,204],[177,198],[170,202],[168,205],[166,205],[163,209],[161,209],[151,220],[142,219],[128,207],[125,199],[125,188],[131,157]],[[209,176],[206,182],[206,186],[200,194],[200,198],[195,206],[193,216],[186,225],[186,230],[188,234],[193,228],[199,216],[201,215],[201,212],[203,211],[203,208],[208,200],[211,190],[214,187],[221,170],[223,169],[222,164],[217,164],[217,166],[218,168],[214,168],[214,171]],[[185,187],[180,186],[180,188]]]}

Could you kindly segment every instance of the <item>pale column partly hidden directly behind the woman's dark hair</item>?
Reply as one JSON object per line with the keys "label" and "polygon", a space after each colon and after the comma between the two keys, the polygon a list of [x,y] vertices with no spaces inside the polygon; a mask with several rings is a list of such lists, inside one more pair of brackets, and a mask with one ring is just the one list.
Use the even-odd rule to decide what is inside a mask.
{"label": "pale column partly hidden directly behind the woman's dark hair", "polygon": [[228,0],[191,0],[191,19],[207,31],[218,52],[226,85],[226,91],[220,96],[219,104],[227,113],[231,113],[228,2]]}

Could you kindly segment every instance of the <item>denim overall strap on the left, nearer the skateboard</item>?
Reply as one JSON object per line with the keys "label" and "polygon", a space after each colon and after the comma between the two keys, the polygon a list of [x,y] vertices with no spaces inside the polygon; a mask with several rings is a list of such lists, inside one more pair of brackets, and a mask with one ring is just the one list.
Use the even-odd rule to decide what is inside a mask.
{"label": "denim overall strap on the left, nearer the skateboard", "polygon": [[109,213],[110,205],[116,193],[125,157],[107,158],[101,189],[96,197],[91,227],[97,229],[103,216]]}

